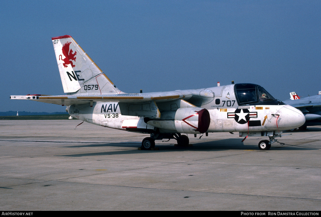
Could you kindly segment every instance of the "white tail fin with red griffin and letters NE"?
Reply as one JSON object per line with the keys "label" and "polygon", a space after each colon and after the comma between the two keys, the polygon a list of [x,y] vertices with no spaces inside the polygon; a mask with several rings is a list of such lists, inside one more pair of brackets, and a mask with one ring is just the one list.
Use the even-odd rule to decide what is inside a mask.
{"label": "white tail fin with red griffin and letters NE", "polygon": [[68,35],[51,38],[65,93],[72,95],[119,94],[113,82]]}

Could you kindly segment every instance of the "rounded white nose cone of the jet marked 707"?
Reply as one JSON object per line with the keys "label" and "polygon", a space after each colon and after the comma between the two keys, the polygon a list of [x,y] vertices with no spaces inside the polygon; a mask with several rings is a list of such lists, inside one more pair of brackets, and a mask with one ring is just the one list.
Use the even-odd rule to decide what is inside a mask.
{"label": "rounded white nose cone of the jet marked 707", "polygon": [[302,126],[304,122],[305,117],[300,110],[291,105],[284,105],[272,115],[265,128],[269,130],[288,130],[298,128]]}

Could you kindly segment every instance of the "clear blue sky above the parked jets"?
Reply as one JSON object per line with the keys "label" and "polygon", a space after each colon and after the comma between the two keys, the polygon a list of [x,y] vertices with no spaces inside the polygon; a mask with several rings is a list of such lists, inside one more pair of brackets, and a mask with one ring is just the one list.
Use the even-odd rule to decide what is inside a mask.
{"label": "clear blue sky above the parked jets", "polygon": [[235,83],[316,95],[321,1],[2,1],[0,111],[56,112],[10,95],[64,95],[51,37],[71,35],[127,93]]}

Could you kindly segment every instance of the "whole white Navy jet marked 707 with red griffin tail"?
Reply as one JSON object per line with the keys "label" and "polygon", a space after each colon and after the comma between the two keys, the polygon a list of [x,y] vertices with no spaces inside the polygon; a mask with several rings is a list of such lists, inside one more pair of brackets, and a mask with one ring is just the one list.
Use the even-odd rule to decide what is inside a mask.
{"label": "whole white Navy jet marked 707 with red griffin tail", "polygon": [[[187,135],[239,132],[240,137],[269,137],[258,147],[268,150],[282,130],[305,122],[298,109],[277,101],[256,84],[231,84],[212,88],[127,94],[92,61],[68,35],[52,38],[62,86],[66,95],[10,96],[65,105],[71,117],[114,129],[150,134],[143,149],[155,140],[176,139],[189,144]],[[245,139],[244,138],[244,139]],[[244,140],[243,139],[243,140]]]}

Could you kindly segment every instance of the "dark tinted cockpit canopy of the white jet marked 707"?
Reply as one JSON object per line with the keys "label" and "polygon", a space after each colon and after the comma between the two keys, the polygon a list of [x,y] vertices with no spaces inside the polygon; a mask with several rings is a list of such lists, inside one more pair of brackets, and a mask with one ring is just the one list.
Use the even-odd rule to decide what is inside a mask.
{"label": "dark tinted cockpit canopy of the white jet marked 707", "polygon": [[263,87],[257,84],[235,84],[234,92],[239,105],[279,105]]}

